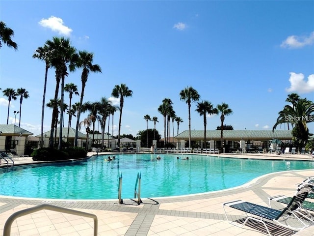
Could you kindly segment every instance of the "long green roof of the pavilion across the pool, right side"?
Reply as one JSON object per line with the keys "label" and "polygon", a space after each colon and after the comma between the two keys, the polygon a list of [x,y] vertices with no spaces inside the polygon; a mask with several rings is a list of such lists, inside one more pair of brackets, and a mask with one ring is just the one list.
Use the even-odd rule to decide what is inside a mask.
{"label": "long green roof of the pavilion across the pool, right side", "polygon": [[[207,130],[206,138],[207,139],[220,139],[221,130]],[[188,130],[183,131],[178,134],[176,139],[186,140],[188,139]],[[204,130],[191,130],[191,139],[201,140],[204,139]],[[290,140],[292,139],[291,130],[224,130],[223,139],[262,139],[262,140],[271,140],[271,139],[283,139]]]}

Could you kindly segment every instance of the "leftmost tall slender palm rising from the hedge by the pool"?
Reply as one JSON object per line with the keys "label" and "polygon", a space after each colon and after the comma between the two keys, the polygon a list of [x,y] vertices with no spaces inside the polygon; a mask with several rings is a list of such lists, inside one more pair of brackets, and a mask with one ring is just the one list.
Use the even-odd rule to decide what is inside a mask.
{"label": "leftmost tall slender palm rising from the hedge by the pool", "polygon": [[45,45],[44,47],[39,47],[36,49],[33,58],[37,58],[40,60],[44,60],[46,64],[45,69],[45,82],[44,82],[44,93],[43,93],[43,102],[42,102],[42,112],[41,112],[41,136],[40,136],[40,148],[43,148],[44,146],[44,114],[45,114],[45,98],[46,98],[46,88],[47,88],[47,77],[48,77],[48,69],[50,68],[51,64],[51,55],[52,50]]}

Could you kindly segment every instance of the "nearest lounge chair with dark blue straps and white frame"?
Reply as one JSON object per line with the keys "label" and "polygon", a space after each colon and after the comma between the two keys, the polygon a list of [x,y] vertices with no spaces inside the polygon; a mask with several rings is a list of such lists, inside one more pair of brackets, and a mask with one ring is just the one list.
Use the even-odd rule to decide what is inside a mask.
{"label": "nearest lounge chair with dark blue straps and white frame", "polygon": [[[226,215],[226,218],[228,221],[228,215],[225,207],[231,207],[233,209],[237,209],[240,211],[245,212],[245,221],[242,224],[242,227],[247,223],[248,220],[253,220],[260,222],[264,225],[267,233],[269,236],[270,229],[267,227],[267,221],[274,222],[276,224],[279,224],[281,226],[284,226],[291,230],[301,230],[306,227],[309,227],[311,224],[314,223],[314,220],[312,219],[311,215],[308,214],[307,211],[304,211],[301,207],[302,203],[310,193],[310,191],[313,189],[313,183],[301,183],[298,185],[298,189],[294,196],[291,198],[291,201],[288,203],[287,207],[284,209],[274,209],[270,207],[264,207],[261,205],[236,200],[233,202],[228,202],[223,204],[223,209]],[[302,223],[302,227],[295,228],[296,225],[288,225],[283,224],[281,221],[286,221],[289,216],[294,216],[295,219],[298,220],[298,222]],[[302,219],[301,219],[302,217]],[[230,221],[230,223],[233,223]]]}

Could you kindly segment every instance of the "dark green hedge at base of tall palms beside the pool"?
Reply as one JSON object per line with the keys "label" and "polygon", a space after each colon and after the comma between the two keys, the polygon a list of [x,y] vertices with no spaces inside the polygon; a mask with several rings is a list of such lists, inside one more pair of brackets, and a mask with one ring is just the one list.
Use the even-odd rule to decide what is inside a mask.
{"label": "dark green hedge at base of tall palms beside the pool", "polygon": [[69,159],[80,159],[86,157],[86,150],[84,148],[39,148],[31,153],[34,161],[58,161]]}

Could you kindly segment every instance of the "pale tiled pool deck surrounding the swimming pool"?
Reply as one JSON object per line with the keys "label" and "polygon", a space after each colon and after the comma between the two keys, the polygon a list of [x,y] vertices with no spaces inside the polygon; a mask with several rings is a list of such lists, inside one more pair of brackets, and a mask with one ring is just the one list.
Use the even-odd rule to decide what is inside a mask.
{"label": "pale tiled pool deck surrounding the swimming pool", "polygon": [[[89,156],[94,154],[96,153],[88,153]],[[158,154],[161,158],[162,155],[167,155]],[[191,156],[191,154],[186,155]],[[307,155],[298,154],[286,156],[220,154],[219,156],[314,161]],[[16,165],[29,163],[33,163],[30,158],[15,160]],[[98,236],[262,236],[264,234],[255,229],[246,226],[240,228],[230,224],[226,220],[223,203],[246,200],[268,206],[267,197],[292,196],[296,184],[310,176],[314,176],[314,169],[272,173],[232,189],[187,196],[142,199],[143,203],[140,205],[132,199],[124,199],[123,204],[118,204],[118,200],[72,201],[0,196],[0,235],[3,234],[5,221],[12,213],[41,204],[49,204],[97,215]],[[235,210],[228,212],[228,215],[232,220],[240,219],[242,216],[241,212]],[[89,235],[93,235],[92,219],[50,210],[41,210],[22,216],[13,222],[11,228],[11,236]],[[299,231],[294,236],[314,236],[314,226]]]}

